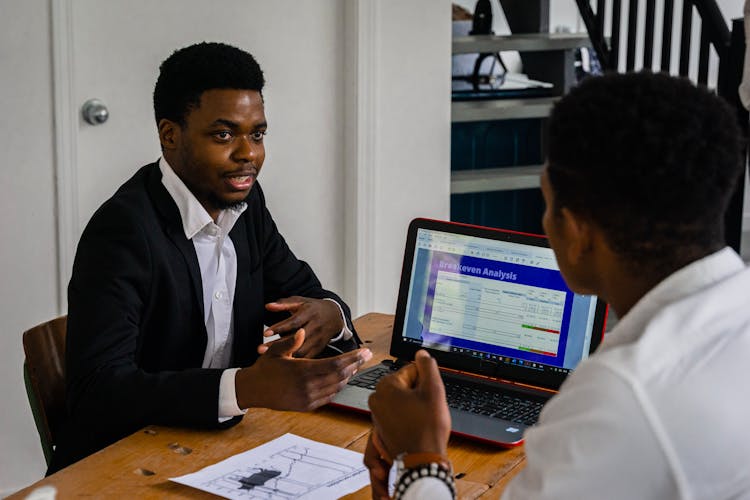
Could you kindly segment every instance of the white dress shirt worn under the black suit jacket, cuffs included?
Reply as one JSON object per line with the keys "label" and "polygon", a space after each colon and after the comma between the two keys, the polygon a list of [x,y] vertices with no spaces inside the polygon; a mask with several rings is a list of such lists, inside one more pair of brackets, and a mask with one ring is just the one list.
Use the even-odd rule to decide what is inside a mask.
{"label": "white dress shirt worn under the black suit jacket, cuffs included", "polygon": [[[162,157],[159,159],[162,184],[177,205],[182,219],[185,237],[192,240],[203,283],[203,310],[206,333],[206,353],[203,368],[228,368],[232,363],[232,340],[234,337],[233,305],[237,283],[237,252],[229,238],[229,232],[245,211],[247,205],[222,210],[216,221],[211,218],[195,195],[175,174]],[[341,305],[332,299],[341,312],[344,329],[331,342],[350,339],[352,333],[346,326]],[[237,404],[235,375],[239,368],[224,370],[219,383],[219,420],[242,415],[247,410]]]}

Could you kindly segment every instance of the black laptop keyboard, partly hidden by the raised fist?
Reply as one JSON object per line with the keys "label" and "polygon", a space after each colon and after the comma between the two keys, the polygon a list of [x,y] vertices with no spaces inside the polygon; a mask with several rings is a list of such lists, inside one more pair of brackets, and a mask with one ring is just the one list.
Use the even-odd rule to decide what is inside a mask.
{"label": "black laptop keyboard, partly hidden by the raised fist", "polygon": [[[395,365],[379,366],[370,372],[357,375],[349,381],[349,385],[374,390],[381,378],[397,370],[398,367]],[[443,378],[443,382],[449,407],[509,422],[534,425],[545,403],[465,380]]]}

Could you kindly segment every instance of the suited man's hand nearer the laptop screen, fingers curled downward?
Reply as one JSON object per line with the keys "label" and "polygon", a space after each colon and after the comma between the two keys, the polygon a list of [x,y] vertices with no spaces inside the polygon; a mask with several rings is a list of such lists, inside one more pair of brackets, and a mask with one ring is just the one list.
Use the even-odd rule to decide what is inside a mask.
{"label": "suited man's hand nearer the laptop screen, fingers curled downward", "polygon": [[[312,358],[320,354],[344,328],[341,310],[330,300],[294,296],[266,304],[266,309],[271,312],[286,311],[291,316],[269,326],[263,336],[279,334],[284,337],[300,328],[305,329],[305,341],[294,352],[297,358]],[[273,342],[259,346],[258,352],[265,353],[271,344]]]}

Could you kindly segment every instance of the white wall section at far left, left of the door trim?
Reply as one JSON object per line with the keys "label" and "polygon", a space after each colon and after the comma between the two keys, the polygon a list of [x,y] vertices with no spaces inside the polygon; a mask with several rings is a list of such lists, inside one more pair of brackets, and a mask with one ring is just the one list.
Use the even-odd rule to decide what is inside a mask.
{"label": "white wall section at far left, left of the door trim", "polygon": [[21,333],[57,314],[52,75],[47,0],[0,16],[0,496],[44,457],[23,385]]}

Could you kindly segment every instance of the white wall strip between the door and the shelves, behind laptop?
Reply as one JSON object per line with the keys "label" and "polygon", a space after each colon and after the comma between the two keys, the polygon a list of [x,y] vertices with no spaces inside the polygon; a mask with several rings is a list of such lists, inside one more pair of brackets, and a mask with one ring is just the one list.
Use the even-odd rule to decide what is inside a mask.
{"label": "white wall strip between the door and the shelves, behind laptop", "polygon": [[346,298],[393,313],[409,221],[450,212],[450,2],[345,12]]}

